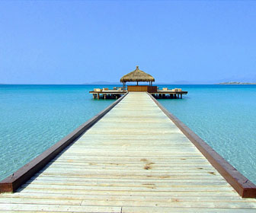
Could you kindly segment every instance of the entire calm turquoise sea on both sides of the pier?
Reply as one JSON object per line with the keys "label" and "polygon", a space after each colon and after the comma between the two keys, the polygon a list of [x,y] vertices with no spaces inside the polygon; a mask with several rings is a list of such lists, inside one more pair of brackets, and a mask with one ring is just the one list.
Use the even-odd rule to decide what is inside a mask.
{"label": "entire calm turquoise sea on both sides of the pier", "polygon": [[[94,87],[114,85],[0,85],[0,180],[114,102]],[[256,183],[256,85],[159,87],[188,91],[159,102]]]}

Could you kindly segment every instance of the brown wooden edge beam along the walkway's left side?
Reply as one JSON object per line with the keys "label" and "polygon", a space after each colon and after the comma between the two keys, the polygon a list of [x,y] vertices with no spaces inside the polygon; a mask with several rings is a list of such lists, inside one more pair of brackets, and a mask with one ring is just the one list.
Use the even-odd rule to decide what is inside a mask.
{"label": "brown wooden edge beam along the walkway's left side", "polygon": [[[128,94],[128,92],[126,93]],[[87,122],[83,123],[81,126],[78,126],[73,132],[69,133],[65,138],[62,138],[60,141],[56,142],[53,146],[43,151],[42,154],[32,159],[29,163],[25,164],[23,167],[18,169],[16,172],[6,177],[0,182],[0,193],[3,192],[15,192],[21,185],[30,180],[37,172],[39,172],[43,167],[46,166],[54,157],[57,156],[64,148],[71,145],[75,142],[83,133],[90,129],[96,122],[98,122],[104,115],[106,115],[110,110],[120,103],[126,94],[123,94],[122,97],[117,99],[110,106],[107,106],[104,110],[98,113],[96,116],[93,116],[91,119],[88,119]]]}

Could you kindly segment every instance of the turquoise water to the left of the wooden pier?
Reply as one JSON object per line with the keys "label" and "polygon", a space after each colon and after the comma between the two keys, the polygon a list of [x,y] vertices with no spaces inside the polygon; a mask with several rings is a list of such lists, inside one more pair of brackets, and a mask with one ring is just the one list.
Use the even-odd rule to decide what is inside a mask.
{"label": "turquoise water to the left of the wooden pier", "polygon": [[92,99],[94,87],[0,85],[0,180],[114,102]]}

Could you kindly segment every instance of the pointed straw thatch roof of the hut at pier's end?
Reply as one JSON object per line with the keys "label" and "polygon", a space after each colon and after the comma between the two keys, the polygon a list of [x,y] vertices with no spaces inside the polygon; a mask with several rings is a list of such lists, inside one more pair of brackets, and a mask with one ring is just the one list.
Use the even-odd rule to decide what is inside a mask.
{"label": "pointed straw thatch roof of the hut at pier's end", "polygon": [[133,72],[130,72],[126,75],[123,75],[123,77],[120,79],[121,82],[127,82],[127,81],[155,81],[155,78],[153,78],[151,75],[147,74],[146,72],[143,72],[139,69],[139,66],[136,66],[136,70]]}

